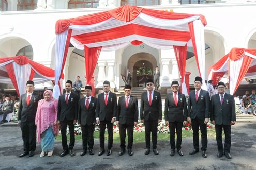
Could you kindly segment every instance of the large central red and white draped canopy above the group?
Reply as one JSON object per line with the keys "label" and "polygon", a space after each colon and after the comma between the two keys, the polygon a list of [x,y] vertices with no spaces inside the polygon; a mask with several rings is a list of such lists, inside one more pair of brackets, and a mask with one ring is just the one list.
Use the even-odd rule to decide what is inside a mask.
{"label": "large central red and white draped canopy above the group", "polygon": [[[63,70],[69,42],[78,49],[85,49],[85,60],[86,57],[97,59],[100,50],[117,50],[140,41],[158,49],[193,45],[198,69],[204,78],[203,27],[206,24],[203,15],[172,13],[128,5],[77,18],[58,20],[55,30],[55,81],[58,82],[58,75]],[[94,53],[91,50],[93,48]],[[94,68],[86,69],[87,82],[90,82],[93,71]],[[185,72],[180,74],[185,75]],[[59,95],[56,92],[59,91],[57,88],[54,87],[55,97]]]}

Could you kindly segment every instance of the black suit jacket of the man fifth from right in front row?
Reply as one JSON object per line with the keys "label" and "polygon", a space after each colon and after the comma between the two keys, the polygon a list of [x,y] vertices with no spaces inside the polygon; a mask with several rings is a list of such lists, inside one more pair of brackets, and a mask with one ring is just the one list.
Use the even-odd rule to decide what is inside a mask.
{"label": "black suit jacket of the man fifth from right in front row", "polygon": [[138,99],[137,97],[130,96],[128,108],[126,108],[126,96],[122,96],[118,100],[116,121],[119,124],[132,124],[138,122]]}

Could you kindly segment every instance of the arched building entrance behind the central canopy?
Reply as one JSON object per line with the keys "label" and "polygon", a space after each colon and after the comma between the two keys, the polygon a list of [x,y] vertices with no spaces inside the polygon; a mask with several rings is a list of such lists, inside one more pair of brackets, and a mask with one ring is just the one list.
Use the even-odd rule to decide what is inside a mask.
{"label": "arched building entrance behind the central canopy", "polygon": [[156,58],[149,53],[132,55],[127,63],[128,72],[131,74],[133,87],[144,86],[148,78],[153,78],[153,69],[157,66]]}

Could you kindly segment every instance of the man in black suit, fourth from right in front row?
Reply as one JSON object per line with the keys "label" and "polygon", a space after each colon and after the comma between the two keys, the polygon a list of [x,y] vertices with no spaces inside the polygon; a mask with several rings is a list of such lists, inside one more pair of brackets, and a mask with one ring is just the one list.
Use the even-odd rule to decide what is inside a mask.
{"label": "man in black suit, fourth from right in front row", "polygon": [[146,150],[145,155],[150,152],[150,133],[152,133],[153,152],[158,155],[157,150],[157,125],[162,120],[162,99],[159,92],[153,90],[154,81],[148,79],[147,91],[141,94],[141,122],[145,125]]}

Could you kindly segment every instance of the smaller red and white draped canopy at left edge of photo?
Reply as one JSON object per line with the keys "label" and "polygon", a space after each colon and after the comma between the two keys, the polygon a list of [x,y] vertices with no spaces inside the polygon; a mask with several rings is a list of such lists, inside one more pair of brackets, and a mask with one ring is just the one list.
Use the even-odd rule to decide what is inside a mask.
{"label": "smaller red and white draped canopy at left edge of photo", "polygon": [[[62,74],[61,78],[64,78]],[[54,80],[54,70],[39,64],[26,56],[0,58],[0,82],[13,84],[17,94],[26,92],[26,82],[33,80],[36,84]]]}

